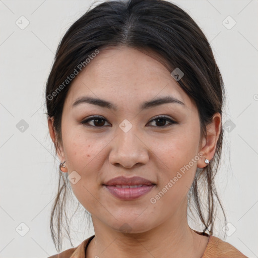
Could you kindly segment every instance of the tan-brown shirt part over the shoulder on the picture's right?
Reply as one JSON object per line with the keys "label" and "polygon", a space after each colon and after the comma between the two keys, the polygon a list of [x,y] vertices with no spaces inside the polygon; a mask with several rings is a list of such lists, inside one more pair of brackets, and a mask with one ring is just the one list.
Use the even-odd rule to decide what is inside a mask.
{"label": "tan-brown shirt part over the shoulder on the picture's right", "polygon": [[230,243],[225,242],[220,238],[211,235],[202,258],[216,258],[216,257],[248,258]]}

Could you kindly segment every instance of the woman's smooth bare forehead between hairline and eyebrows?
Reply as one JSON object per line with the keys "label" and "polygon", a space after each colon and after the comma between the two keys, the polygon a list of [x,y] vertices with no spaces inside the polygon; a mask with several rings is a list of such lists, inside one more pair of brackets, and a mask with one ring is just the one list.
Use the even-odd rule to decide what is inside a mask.
{"label": "woman's smooth bare forehead between hairline and eyebrows", "polygon": [[[106,47],[73,80],[66,102],[91,96],[117,103],[143,102],[155,96],[173,96],[191,107],[191,101],[154,52],[125,46]],[[133,102],[132,102],[133,101]]]}

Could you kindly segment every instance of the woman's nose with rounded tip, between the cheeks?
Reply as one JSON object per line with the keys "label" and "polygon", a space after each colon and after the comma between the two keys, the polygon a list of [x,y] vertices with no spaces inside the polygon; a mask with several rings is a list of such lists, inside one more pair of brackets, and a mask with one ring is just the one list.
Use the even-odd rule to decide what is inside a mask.
{"label": "woman's nose with rounded tip, between the cheeks", "polygon": [[136,125],[130,131],[123,132],[117,128],[116,137],[111,142],[111,151],[109,154],[109,162],[115,166],[123,166],[132,168],[136,164],[146,164],[149,161],[149,148],[137,132]]}

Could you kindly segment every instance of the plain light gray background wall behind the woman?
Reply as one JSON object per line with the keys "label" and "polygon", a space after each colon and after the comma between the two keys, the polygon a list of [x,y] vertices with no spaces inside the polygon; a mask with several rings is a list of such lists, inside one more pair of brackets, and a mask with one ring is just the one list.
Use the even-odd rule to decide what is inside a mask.
{"label": "plain light gray background wall behind the woman", "polygon": [[[59,40],[91,3],[0,0],[0,257],[56,253],[49,220],[59,163],[54,163],[48,136],[44,87]],[[217,182],[231,223],[226,241],[248,257],[258,257],[257,0],[173,3],[207,35],[225,82],[225,148]],[[26,24],[21,16],[29,21],[23,30],[16,25]],[[236,22],[232,28],[228,16]],[[24,132],[17,128],[22,119],[29,125]],[[85,227],[79,225],[74,246],[94,234],[92,228],[84,232]],[[221,232],[217,228],[215,235],[221,237]],[[65,240],[63,249],[71,248]]]}

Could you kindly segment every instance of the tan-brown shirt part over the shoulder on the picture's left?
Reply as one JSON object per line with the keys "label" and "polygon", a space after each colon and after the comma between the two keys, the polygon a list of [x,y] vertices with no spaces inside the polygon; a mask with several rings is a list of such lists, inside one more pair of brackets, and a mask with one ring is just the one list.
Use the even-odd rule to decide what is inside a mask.
{"label": "tan-brown shirt part over the shoulder on the picture's left", "polygon": [[85,248],[86,245],[90,242],[90,240],[94,237],[95,235],[85,239],[83,242],[81,242],[77,247],[67,249],[65,251],[62,251],[60,253],[54,254],[52,256],[49,256],[47,258],[85,258]]}

